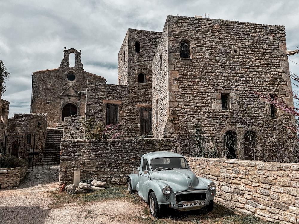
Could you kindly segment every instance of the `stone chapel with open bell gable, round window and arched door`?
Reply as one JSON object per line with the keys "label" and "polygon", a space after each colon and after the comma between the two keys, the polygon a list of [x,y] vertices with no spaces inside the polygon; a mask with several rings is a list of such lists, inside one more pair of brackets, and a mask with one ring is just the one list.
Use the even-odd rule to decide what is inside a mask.
{"label": "stone chapel with open bell gable, round window and arched door", "polygon": [[[71,55],[75,56],[75,67],[69,67]],[[106,81],[83,70],[81,50],[64,48],[59,68],[33,72],[30,113],[47,113],[49,128],[55,128],[70,115],[84,116],[85,96],[80,92],[86,91],[87,80]]]}

